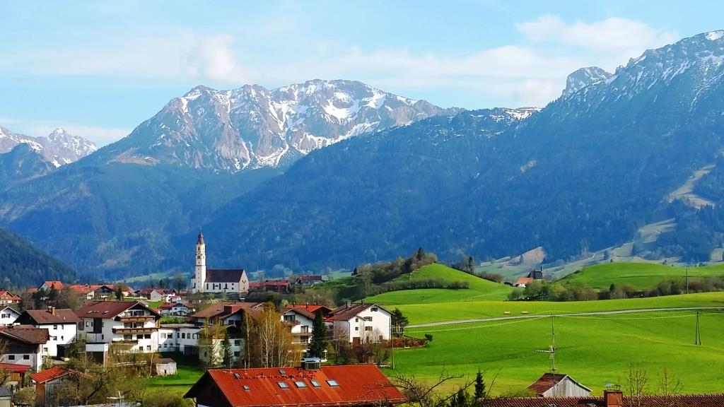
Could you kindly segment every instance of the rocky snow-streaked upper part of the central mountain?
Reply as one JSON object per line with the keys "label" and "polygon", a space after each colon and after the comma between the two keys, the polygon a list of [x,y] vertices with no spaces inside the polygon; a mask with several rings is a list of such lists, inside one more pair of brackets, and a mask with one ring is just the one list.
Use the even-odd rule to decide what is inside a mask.
{"label": "rocky snow-streaked upper part of the central mountain", "polygon": [[458,110],[353,80],[309,80],[272,91],[197,86],[100,154],[108,161],[238,172],[277,167],[355,135]]}

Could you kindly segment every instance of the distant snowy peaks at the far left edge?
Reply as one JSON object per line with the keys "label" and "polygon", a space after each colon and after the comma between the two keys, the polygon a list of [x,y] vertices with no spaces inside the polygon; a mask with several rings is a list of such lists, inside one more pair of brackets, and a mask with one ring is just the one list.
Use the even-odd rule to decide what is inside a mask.
{"label": "distant snowy peaks at the far left edge", "polygon": [[31,137],[13,133],[6,127],[0,126],[0,154],[11,151],[18,144],[28,144],[54,167],[75,162],[98,149],[92,141],[71,135],[61,127],[49,135]]}

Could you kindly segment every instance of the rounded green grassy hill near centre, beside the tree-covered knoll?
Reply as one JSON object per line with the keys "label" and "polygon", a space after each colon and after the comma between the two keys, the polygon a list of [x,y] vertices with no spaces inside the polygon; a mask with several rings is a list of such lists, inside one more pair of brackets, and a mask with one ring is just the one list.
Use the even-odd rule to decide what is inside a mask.
{"label": "rounded green grassy hill near centre, beside the tree-covered knoll", "polygon": [[468,282],[463,290],[447,290],[443,288],[424,288],[418,290],[390,291],[366,298],[365,301],[383,305],[403,305],[413,303],[447,303],[455,301],[503,300],[513,288],[460,270],[451,269],[443,264],[428,264],[415,272],[397,277],[393,281],[428,280],[442,278],[450,281]]}

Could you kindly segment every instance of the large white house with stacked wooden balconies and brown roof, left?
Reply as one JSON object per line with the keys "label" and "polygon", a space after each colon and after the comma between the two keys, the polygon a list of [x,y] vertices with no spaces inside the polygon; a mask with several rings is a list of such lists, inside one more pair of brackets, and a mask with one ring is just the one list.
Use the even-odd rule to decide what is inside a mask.
{"label": "large white house with stacked wooden balconies and brown roof, left", "polygon": [[159,348],[161,314],[138,301],[93,301],[75,311],[85,351],[105,362],[111,346],[151,353]]}

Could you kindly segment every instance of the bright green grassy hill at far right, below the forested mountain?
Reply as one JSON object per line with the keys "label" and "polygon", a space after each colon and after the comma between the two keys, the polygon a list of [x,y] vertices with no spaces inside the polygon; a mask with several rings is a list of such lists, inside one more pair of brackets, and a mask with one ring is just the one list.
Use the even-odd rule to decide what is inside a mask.
{"label": "bright green grassy hill at far right, below the forested mountain", "polygon": [[[686,268],[652,263],[606,263],[586,267],[568,274],[562,282],[584,282],[592,288],[608,288],[615,285],[631,285],[641,290],[656,287],[662,280],[684,280]],[[689,277],[724,276],[724,264],[705,267],[689,267]]]}

